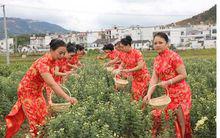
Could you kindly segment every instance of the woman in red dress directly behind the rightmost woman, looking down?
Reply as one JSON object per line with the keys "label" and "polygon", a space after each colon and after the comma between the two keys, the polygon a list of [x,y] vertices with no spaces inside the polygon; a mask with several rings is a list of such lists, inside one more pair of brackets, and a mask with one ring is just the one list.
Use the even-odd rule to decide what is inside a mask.
{"label": "woman in red dress directly behind the rightmost woman, looking down", "polygon": [[131,42],[130,36],[121,39],[120,50],[124,54],[119,55],[122,62],[119,70],[132,76],[133,99],[138,101],[146,95],[150,74],[141,52],[133,49]]}

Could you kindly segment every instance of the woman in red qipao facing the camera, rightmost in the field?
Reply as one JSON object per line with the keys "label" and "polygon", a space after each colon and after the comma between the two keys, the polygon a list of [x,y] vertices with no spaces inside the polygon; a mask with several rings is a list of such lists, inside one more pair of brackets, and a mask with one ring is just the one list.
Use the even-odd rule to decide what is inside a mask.
{"label": "woman in red qipao facing the camera, rightmost in the field", "polygon": [[[154,49],[158,56],[154,60],[153,75],[150,81],[150,86],[158,84],[167,88],[167,92],[171,98],[171,103],[165,109],[166,117],[167,111],[172,110],[175,113],[175,130],[177,138],[191,138],[190,128],[190,109],[191,109],[191,90],[186,83],[186,69],[181,57],[169,50],[168,37],[165,33],[157,33],[154,36]],[[155,87],[149,89],[143,101],[147,102],[151,99]],[[161,110],[154,110],[154,126],[153,136],[156,136],[158,126],[160,124]]]}

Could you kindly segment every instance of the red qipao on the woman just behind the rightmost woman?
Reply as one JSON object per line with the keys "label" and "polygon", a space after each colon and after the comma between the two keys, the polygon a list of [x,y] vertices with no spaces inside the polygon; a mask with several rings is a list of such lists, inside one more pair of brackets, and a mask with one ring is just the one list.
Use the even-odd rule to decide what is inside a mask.
{"label": "red qipao on the woman just behind the rightmost woman", "polygon": [[[132,69],[138,65],[139,61],[144,61],[140,51],[132,49],[128,53],[124,53],[120,57],[121,62],[125,64],[125,69]],[[150,74],[146,64],[138,71],[131,72],[130,75],[133,77],[132,80],[132,91],[133,99],[139,100],[146,95],[147,87],[150,81]]]}

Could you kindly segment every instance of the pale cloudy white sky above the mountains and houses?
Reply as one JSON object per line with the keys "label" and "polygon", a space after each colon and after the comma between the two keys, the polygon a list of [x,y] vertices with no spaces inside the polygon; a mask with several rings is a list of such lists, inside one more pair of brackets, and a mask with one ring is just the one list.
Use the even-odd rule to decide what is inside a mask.
{"label": "pale cloudy white sky above the mountains and houses", "polygon": [[[57,24],[68,30],[95,31],[114,25],[156,26],[180,21],[216,0],[0,0],[7,17]],[[0,11],[0,17],[3,13]]]}

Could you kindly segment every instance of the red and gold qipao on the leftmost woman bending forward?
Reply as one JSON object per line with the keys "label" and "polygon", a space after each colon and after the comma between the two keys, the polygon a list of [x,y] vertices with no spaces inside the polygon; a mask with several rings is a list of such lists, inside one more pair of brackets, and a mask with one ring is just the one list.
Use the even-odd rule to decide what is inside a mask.
{"label": "red and gold qipao on the leftmost woman bending forward", "polygon": [[42,73],[51,73],[54,67],[54,60],[50,54],[45,54],[36,60],[18,86],[18,100],[6,116],[6,138],[14,136],[21,124],[27,118],[30,131],[37,135],[37,125],[45,124],[45,117],[48,114],[46,101],[43,96],[44,80]]}

